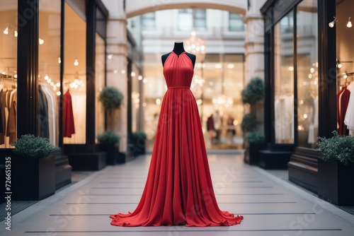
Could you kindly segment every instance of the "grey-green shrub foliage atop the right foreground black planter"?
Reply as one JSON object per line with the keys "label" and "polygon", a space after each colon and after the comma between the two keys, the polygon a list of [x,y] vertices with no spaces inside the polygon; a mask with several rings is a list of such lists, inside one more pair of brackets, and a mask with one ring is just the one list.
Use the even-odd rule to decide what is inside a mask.
{"label": "grey-green shrub foliage atop the right foreground black planter", "polygon": [[354,163],[354,136],[340,136],[337,131],[332,131],[331,138],[318,137],[317,150],[321,153],[324,161],[338,161]]}

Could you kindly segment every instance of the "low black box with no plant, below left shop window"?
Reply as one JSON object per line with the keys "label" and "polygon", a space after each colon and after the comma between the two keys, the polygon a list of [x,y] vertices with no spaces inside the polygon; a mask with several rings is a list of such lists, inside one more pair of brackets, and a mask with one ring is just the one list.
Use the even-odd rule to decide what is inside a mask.
{"label": "low black box with no plant, below left shop window", "polygon": [[105,152],[68,154],[72,170],[101,170],[107,165]]}

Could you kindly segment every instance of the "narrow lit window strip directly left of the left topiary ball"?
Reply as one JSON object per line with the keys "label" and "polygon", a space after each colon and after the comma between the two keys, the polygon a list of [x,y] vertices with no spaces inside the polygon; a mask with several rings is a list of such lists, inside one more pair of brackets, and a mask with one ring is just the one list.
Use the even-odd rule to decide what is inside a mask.
{"label": "narrow lit window strip directly left of the left topiary ball", "polygon": [[98,101],[101,90],[105,87],[105,41],[96,33],[95,90],[96,90],[96,143],[97,136],[105,131],[105,111]]}

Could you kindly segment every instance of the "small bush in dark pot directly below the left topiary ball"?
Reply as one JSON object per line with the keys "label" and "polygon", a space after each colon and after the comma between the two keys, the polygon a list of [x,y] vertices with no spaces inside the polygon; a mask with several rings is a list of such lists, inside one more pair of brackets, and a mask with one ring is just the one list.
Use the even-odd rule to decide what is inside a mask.
{"label": "small bush in dark pot directly below the left topiary ball", "polygon": [[119,160],[119,146],[116,143],[120,141],[120,136],[113,131],[105,131],[103,134],[97,136],[98,142],[101,143],[101,148],[107,154],[105,160],[107,165],[115,165],[116,163],[124,163],[123,160]]}

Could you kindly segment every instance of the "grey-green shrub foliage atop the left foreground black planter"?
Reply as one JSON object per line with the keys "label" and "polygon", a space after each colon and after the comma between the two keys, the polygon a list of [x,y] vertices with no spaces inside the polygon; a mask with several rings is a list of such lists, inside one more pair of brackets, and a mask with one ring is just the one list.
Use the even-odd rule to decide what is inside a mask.
{"label": "grey-green shrub foliage atop the left foreground black planter", "polygon": [[60,151],[50,143],[49,138],[35,137],[33,134],[22,135],[14,144],[13,152],[19,158],[46,158],[52,151]]}

